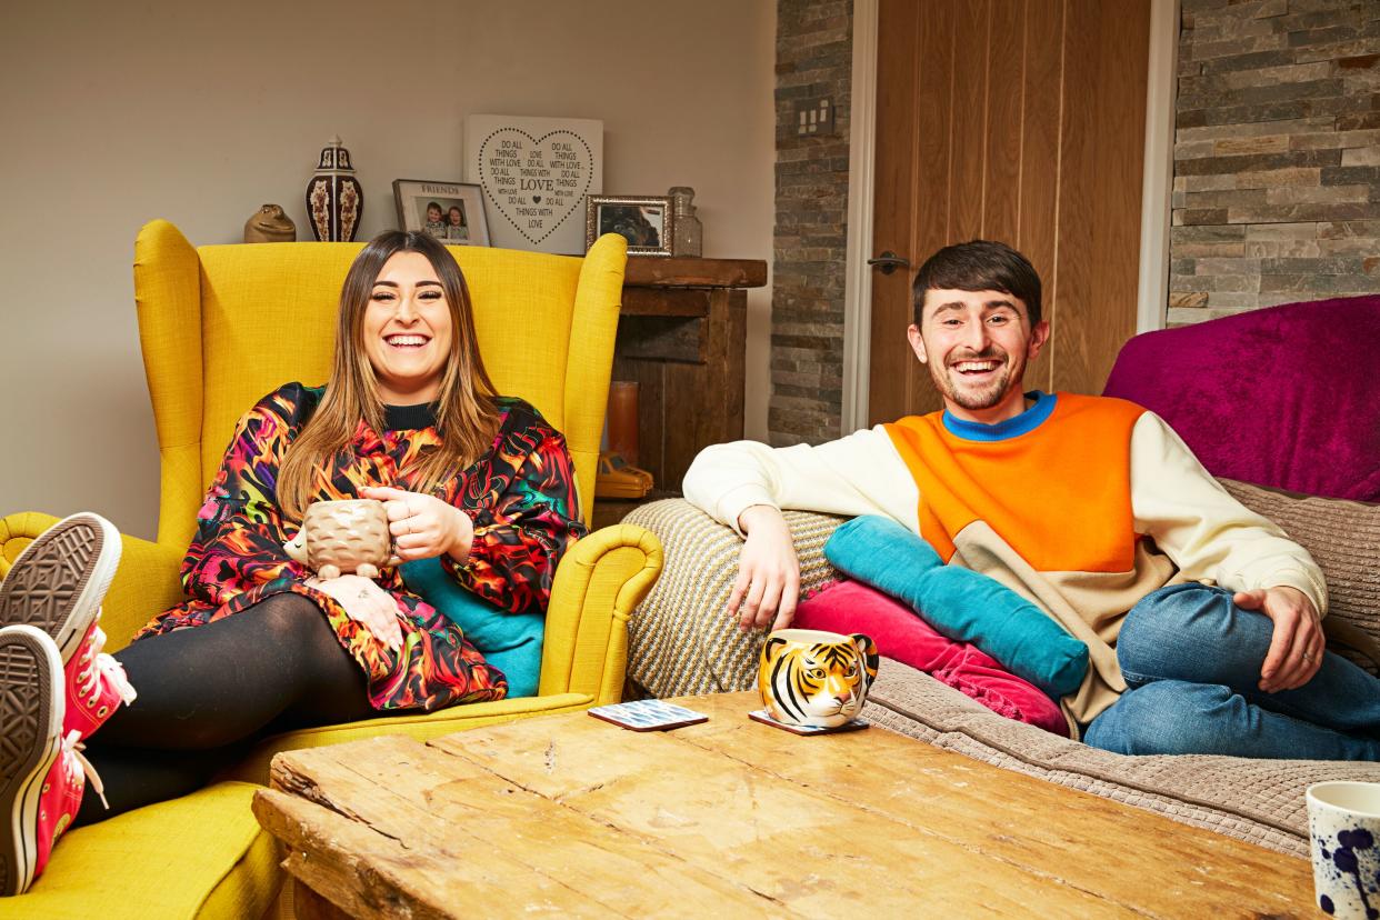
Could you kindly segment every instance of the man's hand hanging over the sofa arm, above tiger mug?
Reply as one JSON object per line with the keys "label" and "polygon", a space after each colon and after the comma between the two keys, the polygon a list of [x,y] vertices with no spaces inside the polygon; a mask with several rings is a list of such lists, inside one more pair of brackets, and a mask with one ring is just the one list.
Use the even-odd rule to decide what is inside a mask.
{"label": "man's hand hanging over the sofa arm, above tiger mug", "polygon": [[795,618],[800,596],[800,563],[791,530],[781,512],[770,505],[748,508],[738,514],[738,527],[748,539],[738,556],[738,581],[729,594],[727,612],[738,617],[742,632],[785,629]]}

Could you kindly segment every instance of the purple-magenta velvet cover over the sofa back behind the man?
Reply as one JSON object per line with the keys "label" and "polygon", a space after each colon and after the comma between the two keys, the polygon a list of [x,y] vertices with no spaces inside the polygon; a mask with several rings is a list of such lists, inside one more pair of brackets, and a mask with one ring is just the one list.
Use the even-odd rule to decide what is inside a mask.
{"label": "purple-magenta velvet cover over the sofa back behind the man", "polygon": [[1126,342],[1105,396],[1154,411],[1213,476],[1380,501],[1380,297],[1286,303]]}

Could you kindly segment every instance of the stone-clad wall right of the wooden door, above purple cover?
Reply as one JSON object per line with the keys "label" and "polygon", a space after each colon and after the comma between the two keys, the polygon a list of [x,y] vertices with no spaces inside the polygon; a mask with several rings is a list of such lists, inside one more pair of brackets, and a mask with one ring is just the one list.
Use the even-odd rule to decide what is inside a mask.
{"label": "stone-clad wall right of the wooden door, above purple cover", "polygon": [[1380,291],[1380,0],[1183,0],[1169,324]]}

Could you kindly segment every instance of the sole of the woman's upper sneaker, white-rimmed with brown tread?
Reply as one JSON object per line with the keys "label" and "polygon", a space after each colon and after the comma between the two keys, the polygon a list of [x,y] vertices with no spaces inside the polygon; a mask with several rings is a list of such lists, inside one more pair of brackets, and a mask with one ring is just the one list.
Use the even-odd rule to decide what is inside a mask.
{"label": "sole of the woman's upper sneaker, white-rimmed with brown tread", "polygon": [[120,531],[90,512],[65,517],[25,546],[0,582],[0,626],[48,633],[72,661],[120,567]]}

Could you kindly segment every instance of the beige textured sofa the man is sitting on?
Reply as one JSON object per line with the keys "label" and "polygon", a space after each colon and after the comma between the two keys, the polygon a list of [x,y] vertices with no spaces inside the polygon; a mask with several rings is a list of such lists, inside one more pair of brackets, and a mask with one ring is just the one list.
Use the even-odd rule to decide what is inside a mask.
{"label": "beige textured sofa the man is sitting on", "polygon": [[[1374,670],[1355,647],[1373,654],[1380,637],[1380,506],[1223,483],[1314,554],[1328,577],[1333,650]],[[651,530],[665,549],[661,581],[628,625],[629,680],[656,697],[752,688],[763,636],[740,633],[724,612],[737,575],[737,535],[680,499],[644,505],[627,521]],[[787,521],[800,556],[802,590],[836,578],[822,548],[840,519],[788,512]],[[1301,858],[1308,855],[1303,793],[1310,783],[1380,781],[1376,763],[1112,754],[1003,719],[885,658],[864,714],[998,767]]]}

